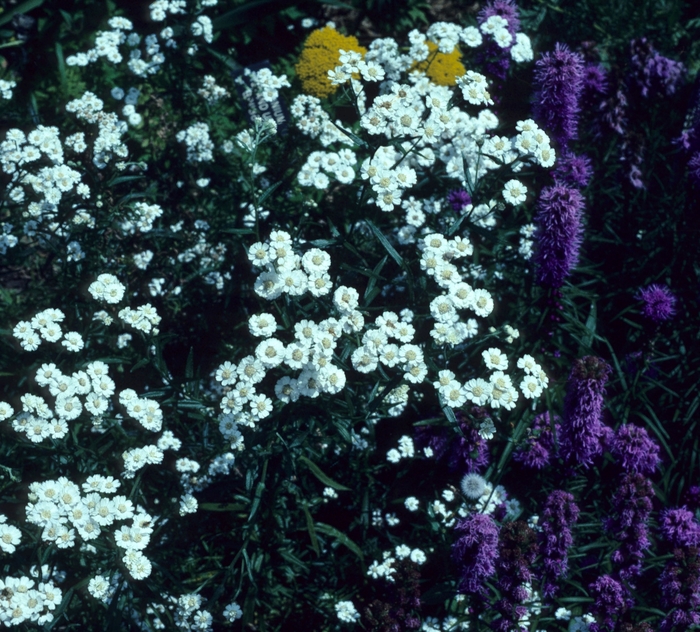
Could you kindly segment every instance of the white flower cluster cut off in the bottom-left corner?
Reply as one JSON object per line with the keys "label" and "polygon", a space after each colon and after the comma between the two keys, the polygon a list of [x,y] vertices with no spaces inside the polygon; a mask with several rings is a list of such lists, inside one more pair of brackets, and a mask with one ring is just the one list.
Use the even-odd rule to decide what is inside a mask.
{"label": "white flower cluster cut off in the bottom-left corner", "polygon": [[30,577],[0,578],[0,621],[8,628],[50,623],[62,599],[61,589],[50,580],[36,584]]}

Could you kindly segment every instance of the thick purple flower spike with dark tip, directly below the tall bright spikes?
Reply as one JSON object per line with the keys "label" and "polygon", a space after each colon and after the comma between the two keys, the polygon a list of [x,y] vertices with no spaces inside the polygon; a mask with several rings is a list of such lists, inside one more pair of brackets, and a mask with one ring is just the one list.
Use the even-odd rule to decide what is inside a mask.
{"label": "thick purple flower spike with dark tip, directly below the tall bright spikes", "polygon": [[607,436],[601,416],[610,371],[608,363],[595,356],[574,362],[567,383],[559,437],[561,454],[566,461],[588,467],[593,457],[603,451]]}

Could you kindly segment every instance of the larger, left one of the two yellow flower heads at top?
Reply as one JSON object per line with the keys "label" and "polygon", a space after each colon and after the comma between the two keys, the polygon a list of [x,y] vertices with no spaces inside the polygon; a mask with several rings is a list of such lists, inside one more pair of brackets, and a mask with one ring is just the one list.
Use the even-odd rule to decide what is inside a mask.
{"label": "larger, left one of the two yellow flower heads at top", "polygon": [[362,55],[367,52],[366,48],[360,46],[356,37],[341,35],[330,26],[309,35],[296,65],[304,92],[324,98],[338,89],[338,86],[334,86],[328,79],[328,71],[340,65],[339,50],[354,50]]}

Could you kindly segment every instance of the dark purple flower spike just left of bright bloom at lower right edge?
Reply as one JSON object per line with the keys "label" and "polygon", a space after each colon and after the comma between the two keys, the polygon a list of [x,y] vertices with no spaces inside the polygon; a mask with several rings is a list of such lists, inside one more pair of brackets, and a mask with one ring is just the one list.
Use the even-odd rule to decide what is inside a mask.
{"label": "dark purple flower spike just left of bright bloom at lower right edge", "polygon": [[612,561],[618,565],[620,577],[629,580],[642,571],[641,560],[649,548],[647,522],[651,514],[654,489],[639,473],[623,476],[613,498],[613,515],[603,521],[606,531],[620,542]]}

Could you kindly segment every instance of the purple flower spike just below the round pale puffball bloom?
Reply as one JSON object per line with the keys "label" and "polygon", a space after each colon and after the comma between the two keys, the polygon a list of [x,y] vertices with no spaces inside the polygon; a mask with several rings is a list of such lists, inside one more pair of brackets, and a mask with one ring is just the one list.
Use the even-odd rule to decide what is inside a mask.
{"label": "purple flower spike just below the round pale puffball bloom", "polygon": [[461,593],[484,594],[484,582],[496,572],[498,527],[491,516],[474,514],[455,527],[452,557],[459,566]]}

